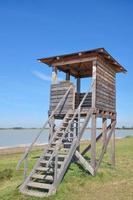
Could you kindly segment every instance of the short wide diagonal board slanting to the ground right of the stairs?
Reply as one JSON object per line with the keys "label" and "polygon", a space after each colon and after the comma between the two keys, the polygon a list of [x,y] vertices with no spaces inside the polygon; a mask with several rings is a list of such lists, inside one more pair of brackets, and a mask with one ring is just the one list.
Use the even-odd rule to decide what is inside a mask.
{"label": "short wide diagonal board slanting to the ground right of the stairs", "polygon": [[89,171],[92,176],[95,175],[95,170],[93,169],[93,167],[85,160],[85,158],[78,151],[75,152],[75,157],[85,170]]}

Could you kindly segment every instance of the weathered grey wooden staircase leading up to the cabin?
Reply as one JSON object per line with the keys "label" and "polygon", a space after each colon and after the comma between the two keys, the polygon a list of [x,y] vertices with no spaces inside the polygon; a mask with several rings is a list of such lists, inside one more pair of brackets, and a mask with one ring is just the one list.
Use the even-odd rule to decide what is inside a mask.
{"label": "weathered grey wooden staircase leading up to the cabin", "polygon": [[36,197],[46,197],[56,192],[91,117],[91,109],[86,113],[84,120],[82,119],[79,134],[76,136],[75,131],[71,131],[71,127],[77,117],[77,110],[67,112],[60,127],[51,138],[48,147],[35,164],[30,175],[20,186],[22,193]]}

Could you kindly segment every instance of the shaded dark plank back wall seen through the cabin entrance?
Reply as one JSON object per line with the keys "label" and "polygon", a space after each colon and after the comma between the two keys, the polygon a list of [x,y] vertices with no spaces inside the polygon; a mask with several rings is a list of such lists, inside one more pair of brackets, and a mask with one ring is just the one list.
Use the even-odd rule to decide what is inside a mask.
{"label": "shaded dark plank back wall seen through the cabin entrance", "polygon": [[[83,97],[84,97],[84,95],[85,95],[86,93],[80,93],[80,102],[82,101],[82,99],[83,99]],[[91,99],[92,99],[92,93],[90,92],[88,95],[87,95],[87,97],[86,97],[86,99],[85,99],[85,101],[84,101],[84,103],[83,103],[83,105],[82,105],[82,108],[88,108],[88,107],[91,107]],[[80,103],[79,102],[79,103]],[[78,94],[76,93],[75,94],[75,108],[77,108],[78,107]]]}

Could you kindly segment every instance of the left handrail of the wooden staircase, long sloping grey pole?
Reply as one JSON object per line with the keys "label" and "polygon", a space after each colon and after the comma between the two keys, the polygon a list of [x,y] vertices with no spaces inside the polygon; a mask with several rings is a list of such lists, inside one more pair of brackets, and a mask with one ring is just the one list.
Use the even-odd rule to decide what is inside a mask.
{"label": "left handrail of the wooden staircase, long sloping grey pole", "polygon": [[31,145],[26,149],[26,151],[23,154],[22,158],[18,161],[18,164],[16,166],[16,170],[19,169],[19,167],[22,164],[22,162],[27,158],[27,156],[30,153],[30,151],[31,151],[32,147],[34,146],[35,142],[38,140],[38,138],[40,137],[41,133],[46,128],[46,125],[49,123],[50,119],[55,115],[55,112],[58,110],[59,106],[65,101],[65,99],[68,96],[68,94],[69,94],[69,92],[70,92],[70,90],[71,90],[72,87],[73,87],[73,85],[71,85],[68,88],[68,90],[66,91],[66,93],[64,94],[64,96],[62,97],[62,99],[57,104],[56,108],[52,111],[52,113],[51,113],[50,117],[48,118],[48,120],[44,123],[43,127],[41,128],[41,130],[39,131],[39,133],[37,134],[37,136],[34,138],[34,140],[31,143]]}

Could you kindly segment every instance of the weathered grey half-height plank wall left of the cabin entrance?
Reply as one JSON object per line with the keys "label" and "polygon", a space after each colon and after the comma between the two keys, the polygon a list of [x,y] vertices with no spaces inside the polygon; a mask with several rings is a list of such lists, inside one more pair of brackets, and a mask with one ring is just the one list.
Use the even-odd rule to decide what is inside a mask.
{"label": "weathered grey half-height plank wall left of the cabin entrance", "polygon": [[[69,81],[62,81],[58,84],[51,85],[50,91],[50,107],[49,107],[49,114],[55,109],[59,101],[63,98],[68,88],[73,85]],[[72,89],[70,90],[66,100],[61,104],[61,106],[56,111],[56,115],[64,115],[68,111],[68,109],[74,109],[75,105],[75,87],[73,85]]]}

